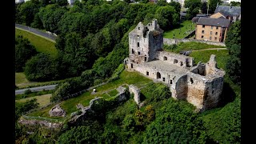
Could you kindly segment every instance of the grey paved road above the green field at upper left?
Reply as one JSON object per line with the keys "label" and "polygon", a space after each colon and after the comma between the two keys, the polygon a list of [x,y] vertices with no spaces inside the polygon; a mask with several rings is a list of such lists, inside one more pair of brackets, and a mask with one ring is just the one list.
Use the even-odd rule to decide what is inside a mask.
{"label": "grey paved road above the green field at upper left", "polygon": [[15,24],[15,27],[20,28],[22,30],[30,31],[31,33],[34,33],[34,34],[38,34],[38,35],[40,35],[44,38],[50,38],[54,42],[55,42],[55,39],[57,38],[57,36],[55,36],[54,34],[42,32],[41,30],[37,30],[37,29],[34,29],[32,27],[29,27],[29,26],[22,26],[22,25],[19,25],[19,24]]}

